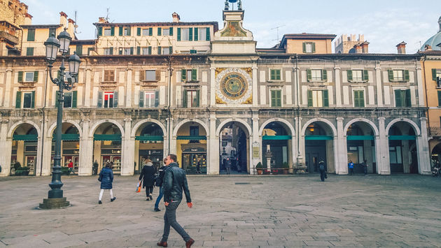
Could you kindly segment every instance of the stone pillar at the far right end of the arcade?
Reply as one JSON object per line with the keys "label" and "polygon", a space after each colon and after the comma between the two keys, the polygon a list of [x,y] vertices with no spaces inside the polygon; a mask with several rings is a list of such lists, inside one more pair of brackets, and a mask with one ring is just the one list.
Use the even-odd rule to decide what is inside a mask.
{"label": "stone pillar at the far right end of the arcade", "polygon": [[419,119],[421,126],[421,136],[418,136],[416,140],[416,149],[418,152],[418,173],[423,175],[430,175],[430,150],[428,147],[427,137],[427,118],[422,117]]}

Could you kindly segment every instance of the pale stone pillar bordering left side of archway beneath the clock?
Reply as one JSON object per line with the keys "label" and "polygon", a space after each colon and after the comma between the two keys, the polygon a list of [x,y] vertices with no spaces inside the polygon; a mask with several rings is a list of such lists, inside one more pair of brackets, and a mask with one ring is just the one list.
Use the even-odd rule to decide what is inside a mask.
{"label": "pale stone pillar bordering left side of archway beneath the clock", "polygon": [[210,112],[207,142],[208,175],[219,175],[219,136],[216,133],[216,112]]}

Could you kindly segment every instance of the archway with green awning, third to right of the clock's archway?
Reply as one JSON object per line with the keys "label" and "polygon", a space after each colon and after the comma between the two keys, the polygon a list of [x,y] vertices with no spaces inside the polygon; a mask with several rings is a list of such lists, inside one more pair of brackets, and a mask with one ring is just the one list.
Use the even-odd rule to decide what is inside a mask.
{"label": "archway with green awning, third to right of the clock's archway", "polygon": [[313,122],[304,133],[304,162],[308,173],[318,173],[318,163],[325,162],[328,173],[335,173],[334,136],[325,122]]}

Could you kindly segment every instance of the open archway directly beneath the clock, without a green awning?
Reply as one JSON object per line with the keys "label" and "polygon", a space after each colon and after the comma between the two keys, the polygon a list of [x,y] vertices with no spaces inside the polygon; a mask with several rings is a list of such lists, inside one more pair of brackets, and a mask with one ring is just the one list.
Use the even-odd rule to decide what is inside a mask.
{"label": "open archway directly beneath the clock, without a green awning", "polygon": [[219,134],[219,173],[249,173],[249,142],[246,128],[240,122],[229,122]]}

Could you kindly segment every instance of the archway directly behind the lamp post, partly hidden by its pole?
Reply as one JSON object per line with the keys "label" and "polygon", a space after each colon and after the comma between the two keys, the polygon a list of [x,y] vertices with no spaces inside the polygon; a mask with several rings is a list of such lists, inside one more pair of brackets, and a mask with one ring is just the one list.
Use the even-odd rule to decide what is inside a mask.
{"label": "archway directly behind the lamp post, partly hidden by its pole", "polygon": [[[50,158],[50,168],[54,166],[55,156],[55,136],[56,130],[52,132],[52,149]],[[73,163],[73,172],[78,175],[78,165],[80,160],[80,134],[75,125],[64,122],[62,124],[62,161],[61,166],[69,167],[69,163]]]}

